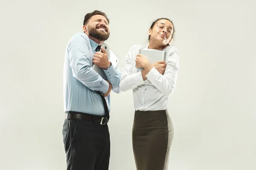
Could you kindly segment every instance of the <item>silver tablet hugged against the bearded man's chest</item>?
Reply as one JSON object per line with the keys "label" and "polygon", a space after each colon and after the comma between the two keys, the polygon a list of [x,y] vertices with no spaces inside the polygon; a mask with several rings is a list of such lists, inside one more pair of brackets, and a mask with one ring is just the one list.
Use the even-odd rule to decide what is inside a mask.
{"label": "silver tablet hugged against the bearded man's chest", "polygon": [[[108,60],[111,62],[112,67],[116,68],[119,59],[116,57],[116,55],[113,53],[113,51],[108,47],[108,45],[104,42],[102,44],[102,47],[105,48],[105,50],[108,53]],[[102,51],[101,51],[102,52]],[[102,68],[98,67],[96,64],[93,64],[93,69],[105,80],[107,80],[107,76],[105,75],[105,72]]]}

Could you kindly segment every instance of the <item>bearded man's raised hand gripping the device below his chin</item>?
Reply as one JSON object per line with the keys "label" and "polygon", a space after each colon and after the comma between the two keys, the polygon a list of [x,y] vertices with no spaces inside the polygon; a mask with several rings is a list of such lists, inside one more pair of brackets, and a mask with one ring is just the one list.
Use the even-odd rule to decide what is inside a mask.
{"label": "bearded man's raised hand gripping the device below his chin", "polygon": [[108,61],[107,51],[101,47],[102,52],[97,51],[93,57],[93,64],[98,65],[100,68],[107,69],[110,62]]}

